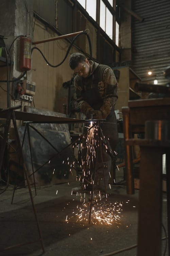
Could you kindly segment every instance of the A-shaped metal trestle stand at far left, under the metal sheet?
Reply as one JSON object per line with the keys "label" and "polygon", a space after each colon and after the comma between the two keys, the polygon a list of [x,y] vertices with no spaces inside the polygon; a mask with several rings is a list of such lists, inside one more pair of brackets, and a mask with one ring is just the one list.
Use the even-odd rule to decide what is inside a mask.
{"label": "A-shaped metal trestle stand at far left, under the metal sheet", "polygon": [[[21,147],[21,144],[20,144],[19,134],[18,134],[17,125],[16,125],[16,118],[15,118],[14,110],[17,109],[17,108],[18,107],[16,107],[16,108],[9,108],[7,110],[2,110],[1,111],[1,112],[7,112],[7,117],[6,117],[6,125],[5,125],[4,136],[3,136],[3,141],[2,141],[2,145],[1,145],[1,151],[0,151],[0,169],[1,169],[1,166],[2,166],[2,160],[3,160],[3,156],[4,156],[4,151],[5,151],[7,134],[8,134],[8,130],[9,130],[9,127],[10,127],[10,122],[11,122],[11,119],[12,119],[13,120],[13,125],[14,125],[14,130],[15,130],[16,137],[17,137],[18,146],[19,146],[19,151],[20,151],[20,154],[21,154],[21,159],[23,161],[23,171],[24,171],[24,175],[25,175],[26,180],[27,180],[28,189],[29,189],[29,193],[30,193],[30,198],[31,198],[31,202],[32,202],[32,208],[33,208],[34,215],[35,215],[35,220],[36,220],[36,223],[37,223],[37,228],[38,228],[38,233],[39,233],[39,241],[41,243],[41,247],[43,249],[43,252],[45,252],[44,241],[43,241],[43,237],[42,237],[41,231],[40,231],[40,226],[39,226],[39,222],[38,222],[37,212],[36,212],[34,201],[33,201],[31,186],[30,186],[30,182],[29,182],[28,174],[27,174],[27,168],[26,168],[26,165],[24,163],[22,147]],[[36,241],[32,241],[31,243],[36,242]],[[14,248],[14,247],[17,247],[17,246],[26,245],[26,244],[29,244],[29,243],[30,242],[24,243],[24,244],[17,244],[17,245],[9,246],[7,248],[3,248],[1,251],[7,250],[7,249],[11,249],[11,248]]]}

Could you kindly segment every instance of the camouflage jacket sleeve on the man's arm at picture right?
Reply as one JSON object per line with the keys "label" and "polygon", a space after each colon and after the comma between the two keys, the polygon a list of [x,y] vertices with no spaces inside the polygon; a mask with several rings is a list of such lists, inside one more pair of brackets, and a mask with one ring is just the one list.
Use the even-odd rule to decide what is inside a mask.
{"label": "camouflage jacket sleeve on the man's arm at picture right", "polygon": [[111,68],[106,68],[103,73],[104,95],[103,105],[100,108],[102,118],[106,118],[117,101],[117,81]]}

